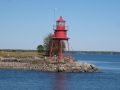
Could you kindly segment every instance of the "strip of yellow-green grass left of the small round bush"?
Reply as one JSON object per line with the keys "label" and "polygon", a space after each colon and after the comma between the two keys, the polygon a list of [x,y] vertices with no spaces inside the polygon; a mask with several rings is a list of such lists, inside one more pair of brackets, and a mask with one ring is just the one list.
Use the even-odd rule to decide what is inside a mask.
{"label": "strip of yellow-green grass left of the small round bush", "polygon": [[38,52],[0,52],[2,57],[16,57],[16,58],[26,58],[26,57],[42,57],[44,53],[38,54]]}

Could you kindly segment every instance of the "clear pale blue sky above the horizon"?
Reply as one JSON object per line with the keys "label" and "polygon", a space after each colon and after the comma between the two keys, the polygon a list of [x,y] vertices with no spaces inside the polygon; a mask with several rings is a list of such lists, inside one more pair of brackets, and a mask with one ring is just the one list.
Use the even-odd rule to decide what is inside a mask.
{"label": "clear pale blue sky above the horizon", "polygon": [[0,0],[0,49],[35,50],[60,16],[71,50],[120,52],[120,0]]}

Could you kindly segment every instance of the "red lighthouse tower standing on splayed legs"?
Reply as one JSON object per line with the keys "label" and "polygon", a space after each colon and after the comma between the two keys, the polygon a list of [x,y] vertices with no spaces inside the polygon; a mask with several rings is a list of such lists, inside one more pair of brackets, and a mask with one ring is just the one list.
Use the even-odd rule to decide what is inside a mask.
{"label": "red lighthouse tower standing on splayed legs", "polygon": [[56,21],[56,26],[53,27],[54,30],[54,36],[52,37],[52,46],[50,49],[50,59],[52,57],[52,48],[54,45],[54,40],[59,40],[60,42],[60,47],[59,47],[59,55],[57,60],[60,62],[64,62],[64,57],[62,55],[62,40],[66,40],[68,44],[68,57],[70,60],[70,50],[69,50],[69,43],[68,43],[68,38],[67,37],[67,31],[68,31],[68,26],[65,26],[65,20],[62,19],[60,16],[60,19]]}

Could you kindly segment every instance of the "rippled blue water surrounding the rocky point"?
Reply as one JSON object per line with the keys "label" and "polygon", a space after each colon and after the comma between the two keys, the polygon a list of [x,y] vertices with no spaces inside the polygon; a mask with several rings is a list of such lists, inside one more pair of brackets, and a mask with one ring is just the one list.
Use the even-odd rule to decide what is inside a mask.
{"label": "rippled blue water surrounding the rocky point", "polygon": [[0,70],[0,90],[120,90],[120,55],[72,54],[101,73]]}

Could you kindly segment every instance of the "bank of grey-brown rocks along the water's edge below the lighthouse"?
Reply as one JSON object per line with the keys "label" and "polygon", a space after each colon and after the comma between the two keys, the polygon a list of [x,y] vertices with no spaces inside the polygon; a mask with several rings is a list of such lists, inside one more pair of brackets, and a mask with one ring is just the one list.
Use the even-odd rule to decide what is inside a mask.
{"label": "bank of grey-brown rocks along the water's edge below the lighthouse", "polygon": [[49,61],[47,58],[2,58],[0,69],[37,70],[47,72],[101,72],[93,64],[81,62]]}

